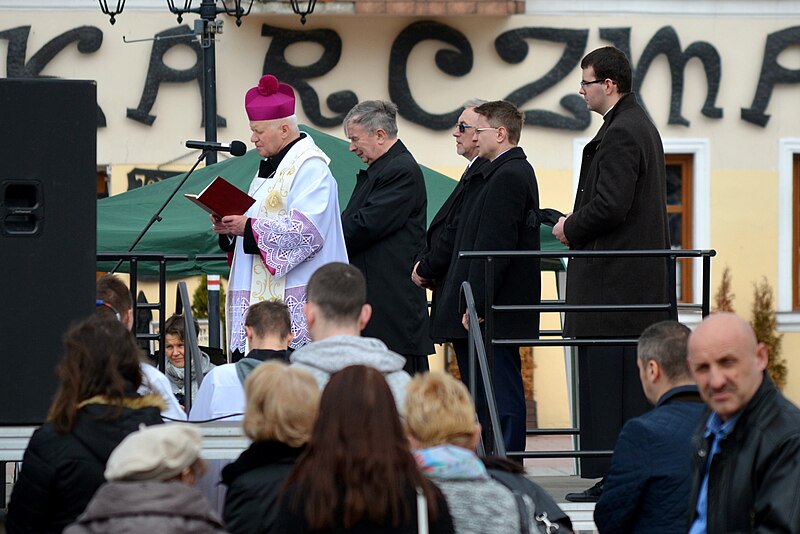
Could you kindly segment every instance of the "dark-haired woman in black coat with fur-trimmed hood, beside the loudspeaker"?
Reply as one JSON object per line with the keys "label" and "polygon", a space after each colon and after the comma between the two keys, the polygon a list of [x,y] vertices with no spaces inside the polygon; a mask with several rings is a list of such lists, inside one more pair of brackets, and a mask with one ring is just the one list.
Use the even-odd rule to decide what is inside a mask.
{"label": "dark-haired woman in black coat with fur-trimmed hood, beside the loudspeaker", "polygon": [[139,347],[115,317],[72,327],[47,422],[31,436],[8,503],[6,531],[61,532],[105,478],[111,451],[139,425],[161,423],[164,401],[140,397]]}

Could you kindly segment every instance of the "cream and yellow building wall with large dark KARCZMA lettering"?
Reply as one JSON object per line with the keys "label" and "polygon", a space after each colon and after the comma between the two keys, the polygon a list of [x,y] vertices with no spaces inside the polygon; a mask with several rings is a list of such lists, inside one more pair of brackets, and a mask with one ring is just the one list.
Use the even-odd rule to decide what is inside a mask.
{"label": "cream and yellow building wall with large dark KARCZMA lettering", "polygon": [[[105,117],[98,130],[98,163],[112,166],[113,193],[127,188],[124,169],[131,165],[191,164],[195,153],[183,143],[204,135],[199,47],[170,40],[126,44],[123,37],[189,31],[194,16],[179,27],[165,8],[145,2],[148,9],[137,11],[136,2],[129,2],[111,26],[94,2],[83,9],[73,0],[71,9],[41,11],[12,4],[0,1],[0,75],[97,80]],[[779,246],[779,238],[791,216],[779,210],[785,198],[779,189],[779,143],[800,137],[800,9],[785,2],[771,3],[780,10],[770,12],[756,2],[672,1],[645,3],[661,6],[645,12],[630,7],[634,4],[529,1],[529,15],[507,17],[321,12],[305,26],[296,16],[266,13],[257,5],[240,28],[221,17],[217,102],[226,126],[218,138],[247,141],[244,92],[262,73],[278,72],[302,87],[301,122],[339,137],[350,101],[394,99],[400,104],[400,136],[420,163],[457,177],[465,162],[453,150],[450,127],[460,103],[475,96],[507,98],[528,112],[521,146],[536,169],[542,206],[569,211],[580,147],[601,124],[576,100],[577,62],[610,42],[627,46],[627,34],[634,66],[646,71],[639,96],[668,151],[686,145],[697,150],[694,246],[717,250],[712,288],[729,266],[735,306],[749,316],[752,284],[762,278],[772,284],[786,312],[781,314],[789,362],[786,392],[800,401],[795,356],[800,336],[790,332],[797,316],[786,299],[790,270],[788,285],[785,274],[779,278],[786,272],[786,247]],[[667,56],[652,53],[658,49],[672,54],[672,73]],[[705,63],[694,57],[685,67],[678,65],[680,52],[687,50]],[[709,86],[717,81],[718,94],[704,113]],[[148,117],[149,124],[143,122]],[[55,142],[69,142],[69,132],[62,139],[43,139],[45,151]],[[539,354],[540,422],[566,425],[563,358]]]}

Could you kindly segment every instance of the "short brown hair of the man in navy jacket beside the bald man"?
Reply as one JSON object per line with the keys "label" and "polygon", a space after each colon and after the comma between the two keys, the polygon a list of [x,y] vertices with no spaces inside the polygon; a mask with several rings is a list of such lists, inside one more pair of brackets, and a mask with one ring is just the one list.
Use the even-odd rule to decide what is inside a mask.
{"label": "short brown hair of the man in navy jacket beside the bald man", "polygon": [[642,363],[655,360],[671,381],[690,379],[686,346],[691,330],[677,321],[648,326],[639,336],[636,352]]}

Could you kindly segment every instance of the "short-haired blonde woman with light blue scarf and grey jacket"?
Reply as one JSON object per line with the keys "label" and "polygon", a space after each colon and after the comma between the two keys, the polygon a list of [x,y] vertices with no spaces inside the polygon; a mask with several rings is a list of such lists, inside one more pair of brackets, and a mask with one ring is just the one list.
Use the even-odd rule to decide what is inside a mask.
{"label": "short-haired blonde woman with light blue scarf and grey jacket", "polygon": [[415,376],[405,416],[417,463],[444,493],[458,534],[527,534],[548,526],[572,532],[567,515],[521,468],[475,454],[481,427],[460,380],[443,373]]}

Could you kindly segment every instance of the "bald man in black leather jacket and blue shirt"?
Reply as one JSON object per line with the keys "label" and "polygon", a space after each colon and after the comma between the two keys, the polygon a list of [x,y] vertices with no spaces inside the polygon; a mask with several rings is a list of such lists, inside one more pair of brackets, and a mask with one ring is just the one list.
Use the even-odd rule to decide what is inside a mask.
{"label": "bald man in black leather jacket and blue shirt", "polygon": [[690,534],[800,533],[800,409],[765,373],[767,359],[732,313],[689,337],[689,370],[709,408],[692,438]]}

